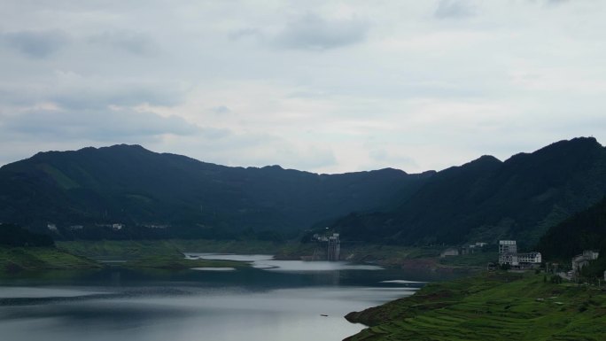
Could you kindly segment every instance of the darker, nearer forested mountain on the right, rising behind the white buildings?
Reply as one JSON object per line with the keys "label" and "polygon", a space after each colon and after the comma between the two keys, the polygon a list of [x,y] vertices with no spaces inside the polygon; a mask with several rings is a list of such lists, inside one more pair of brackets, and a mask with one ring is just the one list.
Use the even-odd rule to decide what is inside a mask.
{"label": "darker, nearer forested mountain on the right, rising behind the white buildings", "polygon": [[483,156],[424,182],[392,210],[350,213],[330,228],[351,239],[460,244],[516,238],[533,245],[551,226],[606,193],[606,149],[560,141],[501,162]]}

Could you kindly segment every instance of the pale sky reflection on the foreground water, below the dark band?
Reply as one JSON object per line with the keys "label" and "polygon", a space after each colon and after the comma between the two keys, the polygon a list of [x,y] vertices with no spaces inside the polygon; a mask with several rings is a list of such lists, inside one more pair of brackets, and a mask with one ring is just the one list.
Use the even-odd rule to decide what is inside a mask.
{"label": "pale sky reflection on the foreground water, below the dark band", "polygon": [[35,309],[4,306],[0,331],[10,340],[340,340],[361,329],[343,314],[400,296],[402,292],[355,287],[131,292],[45,302]]}

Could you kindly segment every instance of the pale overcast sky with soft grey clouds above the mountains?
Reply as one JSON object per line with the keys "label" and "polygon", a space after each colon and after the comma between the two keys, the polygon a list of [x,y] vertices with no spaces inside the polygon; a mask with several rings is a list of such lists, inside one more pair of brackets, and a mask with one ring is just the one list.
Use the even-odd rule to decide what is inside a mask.
{"label": "pale overcast sky with soft grey clouds above the mountains", "polygon": [[408,173],[606,143],[601,0],[0,2],[0,165],[116,143]]}

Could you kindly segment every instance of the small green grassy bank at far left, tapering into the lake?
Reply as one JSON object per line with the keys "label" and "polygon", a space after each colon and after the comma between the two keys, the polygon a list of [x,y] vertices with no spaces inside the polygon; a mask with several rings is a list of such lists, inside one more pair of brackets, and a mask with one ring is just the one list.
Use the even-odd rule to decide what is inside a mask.
{"label": "small green grassy bank at far left, tapering into the lake", "polygon": [[100,266],[94,261],[53,247],[0,247],[0,272],[94,267]]}

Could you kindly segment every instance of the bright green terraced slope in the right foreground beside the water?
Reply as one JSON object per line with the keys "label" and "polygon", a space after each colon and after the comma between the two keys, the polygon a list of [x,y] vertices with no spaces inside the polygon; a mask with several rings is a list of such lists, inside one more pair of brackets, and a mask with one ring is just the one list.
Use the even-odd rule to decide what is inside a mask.
{"label": "bright green terraced slope in the right foreground beside the water", "polygon": [[606,292],[489,273],[432,283],[409,298],[346,316],[371,326],[349,341],[603,340]]}

